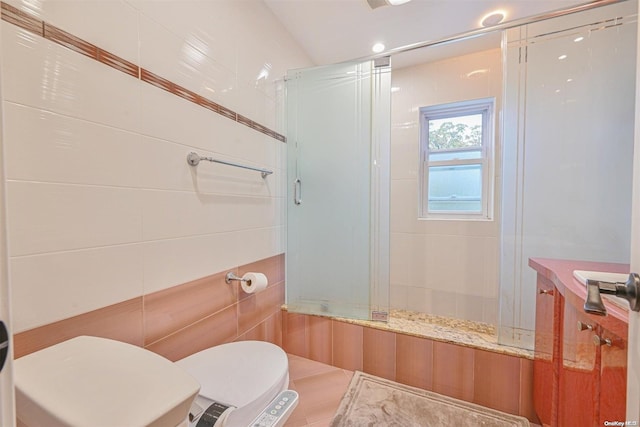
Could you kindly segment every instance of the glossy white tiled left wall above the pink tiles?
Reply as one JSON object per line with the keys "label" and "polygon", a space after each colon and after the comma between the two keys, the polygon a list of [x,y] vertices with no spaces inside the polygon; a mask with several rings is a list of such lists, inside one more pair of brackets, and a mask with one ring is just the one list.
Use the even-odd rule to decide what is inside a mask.
{"label": "glossy white tiled left wall above the pink tiles", "polygon": [[[281,133],[281,79],[312,65],[258,0],[9,3]],[[284,251],[283,143],[1,27],[15,332]]]}

